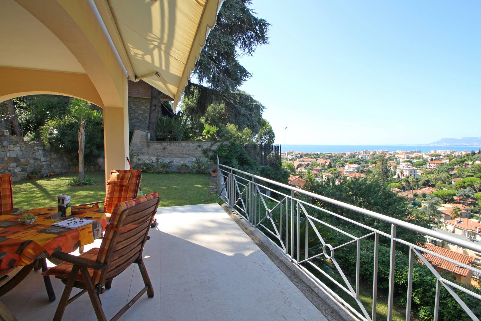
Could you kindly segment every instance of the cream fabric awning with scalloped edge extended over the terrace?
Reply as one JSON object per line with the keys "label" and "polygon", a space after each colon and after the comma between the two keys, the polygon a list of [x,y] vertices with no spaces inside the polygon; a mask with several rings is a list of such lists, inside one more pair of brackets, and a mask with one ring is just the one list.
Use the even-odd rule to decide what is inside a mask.
{"label": "cream fabric awning with scalloped edge extended over the terrace", "polygon": [[223,0],[103,1],[128,57],[130,79],[143,79],[177,106]]}

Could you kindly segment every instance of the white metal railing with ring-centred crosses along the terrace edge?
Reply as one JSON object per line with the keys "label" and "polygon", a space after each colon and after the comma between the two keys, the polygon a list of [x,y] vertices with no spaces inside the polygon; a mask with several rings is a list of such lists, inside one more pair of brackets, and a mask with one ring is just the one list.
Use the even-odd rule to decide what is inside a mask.
{"label": "white metal railing with ring-centred crosses along the terrace edge", "polygon": [[[465,247],[478,253],[481,253],[480,245],[315,193],[310,193],[291,185],[268,180],[239,169],[219,164],[218,160],[217,170],[218,194],[223,201],[246,219],[253,228],[256,228],[258,231],[266,235],[266,237],[275,244],[293,264],[308,273],[320,286],[329,291],[331,295],[342,302],[344,306],[349,308],[350,311],[361,320],[376,320],[380,237],[386,237],[389,239],[389,241],[387,241],[388,244],[390,244],[389,290],[387,301],[388,321],[392,320],[393,315],[396,244],[404,244],[406,250],[408,248],[407,257],[409,267],[407,277],[406,321],[410,321],[411,318],[413,266],[415,261],[425,264],[436,278],[435,303],[433,309],[434,321],[438,321],[441,286],[453,296],[456,302],[464,309],[464,311],[466,311],[472,320],[479,321],[476,314],[461,299],[458,293],[462,292],[479,300],[481,300],[481,295],[461,286],[457,282],[447,280],[443,277],[443,273],[438,271],[439,269],[436,270],[435,266],[431,265],[431,263],[423,256],[423,253],[442,258],[443,260],[456,264],[459,268],[468,269],[474,274],[481,273],[481,270],[477,267],[469,266],[462,262],[431,252],[426,248],[419,246],[419,244],[407,242],[396,236],[396,230],[398,228],[404,228],[421,233],[422,235],[427,235],[451,244]],[[267,185],[275,186],[276,188],[268,187]],[[380,231],[379,229],[346,218],[325,208],[310,204],[300,199],[302,195],[387,222],[391,225],[391,232]],[[348,231],[343,231],[341,228],[330,224],[329,219],[323,219],[322,216],[319,217],[319,215],[316,215],[316,213],[321,212],[325,213],[324,215],[327,215],[328,218],[336,218],[343,222],[354,224],[362,228],[365,232],[361,236],[354,236]],[[302,224],[304,224],[304,226],[302,226]],[[343,235],[343,243],[335,244],[335,246],[329,244],[329,242],[322,236],[324,232],[319,231],[320,227],[322,227],[322,229],[333,231],[334,233],[337,233],[337,235]],[[315,233],[312,234],[314,235],[314,239],[309,233]],[[349,239],[349,241],[345,242],[346,238]],[[363,276],[360,275],[361,242],[367,239],[373,239],[374,241],[374,257],[372,263],[372,307],[369,307],[371,313],[367,311],[367,308],[365,307],[366,304],[361,302],[359,293],[360,282],[363,278]],[[312,244],[313,242],[319,243],[317,246],[317,253],[313,253],[312,250],[309,251],[310,243]],[[335,257],[336,250],[345,248],[349,244],[355,244],[356,247],[357,260],[355,275],[345,274]],[[330,266],[334,267],[332,270],[338,273],[338,277],[333,277],[332,273],[329,273],[329,268],[318,264],[319,259],[327,260]],[[321,281],[321,279],[323,281]],[[326,283],[329,283],[330,285],[327,285]],[[340,295],[339,292],[341,292],[342,295]],[[346,300],[349,300],[350,302],[347,302]],[[478,302],[478,305],[479,303],[481,302]]]}

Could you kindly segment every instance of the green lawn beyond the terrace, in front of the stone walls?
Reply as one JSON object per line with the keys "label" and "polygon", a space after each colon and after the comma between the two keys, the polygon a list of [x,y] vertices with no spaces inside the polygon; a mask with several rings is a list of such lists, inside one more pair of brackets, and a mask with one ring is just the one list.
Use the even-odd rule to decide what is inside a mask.
{"label": "green lawn beyond the terrace, in front of the stone walls", "polygon": [[[68,173],[39,180],[14,182],[13,206],[20,209],[55,206],[60,193],[71,195],[74,205],[104,200],[104,172],[86,173],[86,177],[95,180],[95,185],[68,186],[67,182],[74,177],[76,173]],[[142,173],[140,188],[144,194],[160,192],[161,207],[217,203],[216,195],[209,196],[210,181],[211,176],[207,174]]]}

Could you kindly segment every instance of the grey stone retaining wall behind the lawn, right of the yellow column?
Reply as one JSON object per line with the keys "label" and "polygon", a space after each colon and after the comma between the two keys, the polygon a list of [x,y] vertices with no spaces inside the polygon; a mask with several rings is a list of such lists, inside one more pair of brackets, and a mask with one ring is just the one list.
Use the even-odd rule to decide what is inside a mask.
{"label": "grey stone retaining wall behind the lawn, right of the yellow column", "polygon": [[[130,141],[130,155],[134,162],[150,163],[160,159],[172,161],[172,169],[176,171],[180,164],[192,165],[195,157],[201,156],[204,148],[217,148],[223,141],[150,141],[150,133],[139,128],[134,130]],[[214,168],[214,167],[212,167]]]}

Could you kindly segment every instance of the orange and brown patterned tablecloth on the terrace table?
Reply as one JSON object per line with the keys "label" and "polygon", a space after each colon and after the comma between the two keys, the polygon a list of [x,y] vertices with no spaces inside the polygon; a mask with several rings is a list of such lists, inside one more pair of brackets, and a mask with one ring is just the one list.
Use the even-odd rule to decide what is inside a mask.
{"label": "orange and brown patterned tablecloth on the terrace table", "polygon": [[[73,206],[72,208],[75,208]],[[87,218],[96,222],[76,229],[52,226],[50,214],[40,215],[49,208],[37,208],[19,213],[0,215],[0,252],[7,255],[0,259],[0,272],[15,266],[25,266],[36,258],[50,257],[55,251],[70,253],[80,245],[93,243],[102,235],[107,226],[105,213],[95,207],[89,207],[83,214],[73,217]],[[56,210],[55,210],[56,212]],[[32,213],[38,218],[30,225],[24,225],[18,218]]]}

